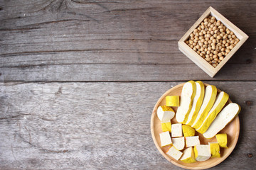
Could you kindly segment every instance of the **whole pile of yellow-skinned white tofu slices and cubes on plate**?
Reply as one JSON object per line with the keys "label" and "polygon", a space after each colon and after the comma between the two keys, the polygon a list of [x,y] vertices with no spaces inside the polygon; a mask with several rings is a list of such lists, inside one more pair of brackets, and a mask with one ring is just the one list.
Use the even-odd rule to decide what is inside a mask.
{"label": "whole pile of yellow-skinned white tofu slices and cubes on plate", "polygon": [[[236,103],[225,106],[228,94],[217,93],[215,86],[204,86],[202,81],[186,82],[180,98],[179,101],[179,96],[166,96],[166,106],[157,109],[163,130],[159,134],[161,147],[169,146],[166,154],[186,163],[220,157],[220,142],[227,143],[226,135],[223,141],[201,145],[196,131],[206,138],[215,137],[238,115],[240,106]],[[178,107],[176,113],[171,107]],[[178,123],[172,124],[174,117]]]}

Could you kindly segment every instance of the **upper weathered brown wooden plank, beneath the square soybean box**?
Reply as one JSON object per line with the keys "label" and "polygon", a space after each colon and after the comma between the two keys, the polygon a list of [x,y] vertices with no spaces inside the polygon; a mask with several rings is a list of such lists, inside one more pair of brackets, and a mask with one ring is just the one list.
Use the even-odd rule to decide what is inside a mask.
{"label": "upper weathered brown wooden plank, beneath the square soybean box", "polygon": [[23,0],[0,2],[0,81],[211,80],[178,50],[209,6],[250,37],[215,79],[255,80],[255,1]]}

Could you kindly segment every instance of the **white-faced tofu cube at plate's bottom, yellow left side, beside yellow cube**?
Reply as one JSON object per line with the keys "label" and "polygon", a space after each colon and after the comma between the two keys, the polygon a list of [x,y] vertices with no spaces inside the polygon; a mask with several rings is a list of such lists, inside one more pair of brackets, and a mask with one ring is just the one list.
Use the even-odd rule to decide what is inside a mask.
{"label": "white-faced tofu cube at plate's bottom, yellow left side, beside yellow cube", "polygon": [[198,162],[206,161],[210,158],[210,145],[196,145],[194,152]]}

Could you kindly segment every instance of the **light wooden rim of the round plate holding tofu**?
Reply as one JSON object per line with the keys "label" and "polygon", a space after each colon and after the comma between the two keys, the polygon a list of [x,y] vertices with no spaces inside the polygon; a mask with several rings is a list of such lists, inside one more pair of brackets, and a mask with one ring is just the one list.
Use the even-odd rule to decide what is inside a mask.
{"label": "light wooden rim of the round plate holding tofu", "polygon": [[[188,164],[188,163],[184,163],[184,162],[181,162],[181,161],[176,161],[174,158],[172,157],[169,157],[167,156],[166,153],[163,152],[163,150],[161,149],[161,147],[159,146],[159,144],[157,143],[156,141],[156,137],[155,137],[155,134],[154,134],[154,118],[156,115],[156,111],[157,111],[157,108],[159,106],[159,104],[161,103],[161,101],[164,100],[164,98],[169,94],[171,93],[171,91],[174,91],[178,88],[181,88],[181,86],[183,86],[185,83],[183,84],[178,84],[174,87],[172,87],[171,89],[169,89],[168,91],[166,91],[160,98],[159,100],[156,102],[156,105],[154,106],[154,109],[153,109],[153,112],[152,112],[152,115],[151,115],[151,135],[152,135],[152,138],[154,140],[154,144],[156,145],[156,148],[159,150],[159,152],[169,161],[171,162],[172,164],[175,164],[176,166],[179,166],[183,169],[208,169],[208,168],[211,168],[213,166],[216,166],[218,164],[220,164],[221,162],[223,162],[230,154],[231,152],[233,152],[233,149],[235,149],[235,145],[237,144],[238,142],[238,137],[239,137],[239,133],[240,133],[240,121],[239,121],[239,117],[236,116],[236,118],[234,118],[232,120],[232,122],[230,122],[227,126],[225,126],[225,128],[223,128],[223,130],[225,130],[231,123],[236,123],[236,132],[235,132],[235,140],[232,142],[233,145],[229,146],[228,147],[228,152],[225,153],[225,155],[222,155],[220,158],[210,158],[210,159],[215,159],[215,162],[212,162],[212,163],[208,163],[208,161],[210,159],[208,159],[207,161],[205,162],[197,162],[198,164],[202,164],[203,166],[193,166],[193,164],[195,163],[191,163],[191,164]],[[209,84],[206,84],[206,83],[203,83],[205,86],[208,86]],[[218,93],[220,93],[220,89],[218,89]],[[180,96],[180,95],[179,95]],[[230,98],[228,99],[228,102],[227,103],[232,103],[232,101],[230,100]],[[223,130],[220,130],[223,131]],[[197,165],[198,165],[197,164]],[[186,165],[190,165],[190,166],[186,166]]]}

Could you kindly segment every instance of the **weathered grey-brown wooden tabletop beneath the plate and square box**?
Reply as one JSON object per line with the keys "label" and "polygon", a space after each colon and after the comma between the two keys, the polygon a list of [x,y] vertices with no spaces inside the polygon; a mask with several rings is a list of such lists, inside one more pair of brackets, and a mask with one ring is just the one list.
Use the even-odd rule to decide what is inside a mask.
{"label": "weathered grey-brown wooden tabletop beneath the plate and square box", "polygon": [[[210,78],[178,40],[213,6],[249,39]],[[201,80],[240,104],[212,169],[256,166],[255,1],[0,1],[0,169],[180,169],[156,149],[154,104]]]}

